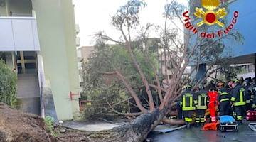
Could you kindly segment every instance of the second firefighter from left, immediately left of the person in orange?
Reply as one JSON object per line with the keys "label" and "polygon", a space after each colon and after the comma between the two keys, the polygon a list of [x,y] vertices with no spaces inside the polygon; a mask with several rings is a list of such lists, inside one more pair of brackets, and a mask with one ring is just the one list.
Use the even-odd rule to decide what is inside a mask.
{"label": "second firefighter from left, immediately left of the person in orange", "polygon": [[195,105],[196,105],[196,126],[203,126],[205,122],[205,113],[209,104],[209,95],[203,87],[203,84],[199,84],[199,91],[196,92]]}

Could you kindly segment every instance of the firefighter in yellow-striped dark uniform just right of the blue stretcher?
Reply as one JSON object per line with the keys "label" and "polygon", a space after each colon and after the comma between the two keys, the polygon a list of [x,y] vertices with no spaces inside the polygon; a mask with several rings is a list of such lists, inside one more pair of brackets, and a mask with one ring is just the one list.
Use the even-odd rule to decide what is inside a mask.
{"label": "firefighter in yellow-striped dark uniform just right of the blue stretcher", "polygon": [[235,79],[235,89],[233,91],[230,101],[233,104],[233,116],[242,124],[242,107],[245,106],[245,89],[242,87],[243,80]]}

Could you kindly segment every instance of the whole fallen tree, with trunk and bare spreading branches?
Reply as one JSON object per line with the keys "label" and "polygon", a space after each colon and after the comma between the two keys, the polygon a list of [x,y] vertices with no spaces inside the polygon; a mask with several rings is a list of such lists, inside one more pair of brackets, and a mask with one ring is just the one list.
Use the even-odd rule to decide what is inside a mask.
{"label": "whole fallen tree, with trunk and bare spreading branches", "polygon": [[[106,77],[107,75],[112,75],[115,77],[115,79],[117,79],[117,82],[121,82],[123,85],[121,89],[125,88],[127,95],[129,95],[126,99],[124,99],[124,102],[136,106],[137,111],[129,111],[129,105],[127,107],[128,110],[126,111],[118,110],[115,108],[115,104],[118,104],[119,102],[115,102],[113,104],[107,100],[107,97],[105,99],[105,105],[107,105],[108,108],[103,109],[124,116],[137,116],[136,119],[129,124],[125,124],[107,131],[76,131],[58,126],[54,130],[56,133],[60,132],[60,129],[65,129],[65,132],[59,133],[58,137],[53,140],[48,133],[44,135],[42,134],[45,139],[41,139],[41,141],[143,141],[147,134],[161,121],[164,121],[167,124],[183,124],[182,120],[173,121],[166,118],[166,114],[169,113],[171,108],[176,105],[176,100],[179,98],[183,85],[193,82],[193,79],[191,79],[190,76],[193,71],[198,70],[201,62],[206,61],[206,59],[213,58],[218,59],[218,61],[223,59],[223,57],[220,58],[220,55],[223,53],[223,49],[225,48],[225,44],[222,42],[223,38],[237,40],[240,35],[237,33],[229,33],[226,36],[215,38],[213,40],[199,38],[198,35],[195,35],[195,38],[195,36],[191,35],[189,31],[183,31],[185,40],[180,40],[177,32],[178,28],[169,29],[167,21],[171,20],[174,17],[174,14],[181,19],[183,7],[172,1],[171,4],[167,4],[165,7],[164,18],[166,19],[166,24],[164,28],[161,28],[161,37],[158,40],[159,42],[156,43],[158,46],[152,46],[151,42],[148,40],[149,29],[154,27],[151,24],[148,24],[146,27],[142,28],[142,31],[140,32],[142,34],[136,38],[132,36],[132,31],[139,26],[139,11],[145,5],[146,4],[143,1],[131,0],[128,1],[126,5],[122,6],[117,11],[117,14],[112,16],[112,26],[117,28],[122,35],[120,40],[114,40],[104,33],[98,33],[96,35],[99,49],[105,49],[107,47],[107,41],[112,41],[119,44],[120,48],[126,50],[130,58],[127,64],[132,65],[132,67],[134,67],[136,70],[136,75],[139,76],[140,84],[132,84],[131,80],[133,78],[129,78],[130,76],[124,75],[122,69],[120,69],[117,64],[113,63],[112,60],[107,57],[107,53],[102,54],[102,57],[105,57],[104,60],[99,62],[99,65],[95,64],[94,66],[99,68],[95,68],[97,70],[92,72],[96,76],[104,75]],[[216,30],[217,29],[218,28],[216,28]],[[194,38],[191,42],[192,37]],[[162,80],[156,71],[157,67],[154,65],[154,62],[151,62],[151,48],[154,47],[156,47],[156,51],[159,49],[161,50],[160,55],[161,57],[164,57],[163,61],[164,65],[166,66],[166,71],[167,69],[170,70],[171,74],[173,75],[171,79],[169,79],[167,75],[164,76],[166,80],[166,87],[164,87]],[[138,62],[136,58],[137,53],[142,53],[144,55],[144,62]],[[153,71],[154,82],[147,78],[145,70],[142,68],[142,63],[147,63],[150,70]],[[186,67],[191,63],[196,65],[196,67],[191,70],[189,75],[183,76]],[[107,68],[103,68],[105,66],[107,66]],[[215,69],[212,67],[212,69],[218,70],[221,68],[217,67],[217,69]],[[208,75],[206,75],[206,77],[207,76]],[[203,77],[202,80],[197,82],[197,84],[203,82],[206,77]],[[97,78],[95,78],[95,80],[97,80]],[[134,86],[143,86],[145,95],[141,97],[138,90],[134,89]],[[120,102],[122,101],[123,100]],[[18,116],[16,117],[17,121],[21,121],[21,123],[23,123],[22,118]],[[28,118],[31,120],[37,119],[35,116],[29,116]],[[42,119],[39,121],[41,122]],[[6,122],[8,122],[8,116],[5,117],[4,121],[1,123],[1,126],[3,126],[2,128],[5,129],[5,131],[2,133],[8,133],[8,131],[11,129],[6,128]],[[31,127],[33,126],[31,126],[31,124],[28,125],[30,126],[28,126],[26,130],[23,130],[22,132],[26,133],[25,135],[27,137],[34,138],[33,135],[31,135],[31,131],[33,131]],[[36,124],[36,127],[37,126],[40,126],[38,129],[40,129],[42,133],[45,132],[43,131],[45,129],[43,129],[41,123]],[[22,134],[22,132],[21,130],[15,131],[15,135],[13,136],[23,136],[24,134]],[[3,136],[6,138],[6,134],[3,134]],[[34,139],[31,139],[31,141],[34,141]]]}

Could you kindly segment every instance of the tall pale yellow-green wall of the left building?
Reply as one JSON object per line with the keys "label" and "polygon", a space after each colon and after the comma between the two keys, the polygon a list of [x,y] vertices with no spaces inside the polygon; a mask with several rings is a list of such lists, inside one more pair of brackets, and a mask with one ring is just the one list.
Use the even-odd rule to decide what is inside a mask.
{"label": "tall pale yellow-green wall of the left building", "polygon": [[78,100],[78,65],[75,48],[75,21],[71,0],[33,0],[45,75],[50,78],[58,120],[73,119]]}

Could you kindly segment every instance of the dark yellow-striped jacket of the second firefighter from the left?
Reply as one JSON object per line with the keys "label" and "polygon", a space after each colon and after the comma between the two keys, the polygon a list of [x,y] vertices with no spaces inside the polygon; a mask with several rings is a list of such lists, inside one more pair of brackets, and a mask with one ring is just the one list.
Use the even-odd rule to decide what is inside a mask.
{"label": "dark yellow-striped jacket of the second firefighter from the left", "polygon": [[196,92],[196,96],[194,98],[196,109],[207,109],[209,104],[209,94],[205,89],[201,89]]}

